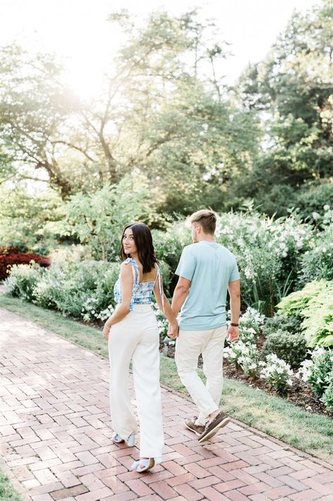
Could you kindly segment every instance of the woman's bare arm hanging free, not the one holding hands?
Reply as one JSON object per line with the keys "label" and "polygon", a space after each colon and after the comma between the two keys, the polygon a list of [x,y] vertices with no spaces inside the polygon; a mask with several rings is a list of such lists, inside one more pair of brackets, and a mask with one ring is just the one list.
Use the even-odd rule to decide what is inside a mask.
{"label": "woman's bare arm hanging free, not the one holding hands", "polygon": [[132,265],[130,263],[127,265],[122,262],[122,265],[120,265],[120,282],[122,290],[122,303],[117,305],[115,311],[112,313],[112,316],[105,322],[103,337],[106,341],[109,338],[112,325],[117,324],[129,314],[129,307],[131,305],[131,298],[133,294],[133,272]]}

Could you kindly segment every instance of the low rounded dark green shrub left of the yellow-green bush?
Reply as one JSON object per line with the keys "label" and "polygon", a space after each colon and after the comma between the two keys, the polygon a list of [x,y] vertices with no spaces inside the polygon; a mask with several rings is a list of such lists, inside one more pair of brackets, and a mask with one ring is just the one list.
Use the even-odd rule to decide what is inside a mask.
{"label": "low rounded dark green shrub left of the yellow-green bush", "polygon": [[261,357],[275,353],[280,359],[285,360],[292,369],[298,369],[306,358],[306,339],[303,334],[291,334],[282,329],[272,332],[266,339],[261,350]]}

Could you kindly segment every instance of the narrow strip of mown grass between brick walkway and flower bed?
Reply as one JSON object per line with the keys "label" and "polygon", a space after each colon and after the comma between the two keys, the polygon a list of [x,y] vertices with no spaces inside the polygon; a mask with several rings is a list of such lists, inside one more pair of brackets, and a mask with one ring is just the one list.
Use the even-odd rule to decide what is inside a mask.
{"label": "narrow strip of mown grass between brick walkway and flower bed", "polygon": [[[0,307],[107,357],[107,343],[99,329],[67,319],[60,313],[23,303],[11,296],[0,295]],[[202,372],[200,375],[204,379]],[[174,360],[164,356],[161,357],[161,381],[169,388],[186,394]],[[311,414],[283,398],[270,396],[231,379],[225,380],[221,407],[235,419],[333,463],[333,421],[329,417]]]}

